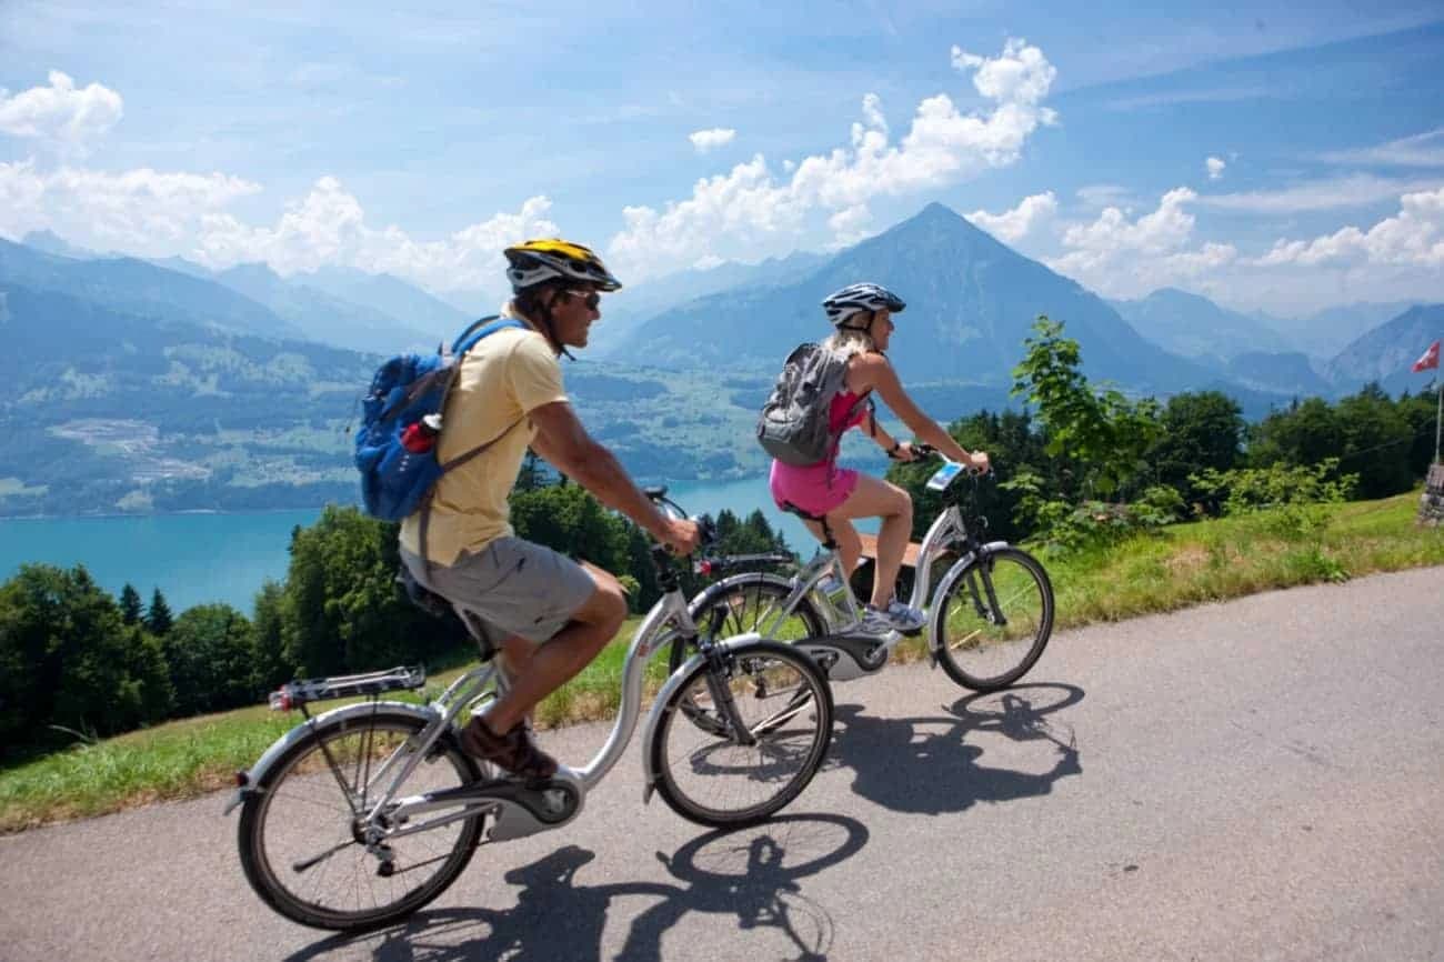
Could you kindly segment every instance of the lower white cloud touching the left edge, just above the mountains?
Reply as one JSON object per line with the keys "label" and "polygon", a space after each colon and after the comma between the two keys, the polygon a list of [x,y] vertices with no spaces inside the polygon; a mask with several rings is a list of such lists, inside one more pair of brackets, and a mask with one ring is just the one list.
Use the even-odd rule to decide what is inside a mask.
{"label": "lower white cloud touching the left edge, just above the mountains", "polygon": [[87,247],[172,254],[204,217],[260,189],[222,173],[42,172],[33,160],[0,163],[0,234],[49,228]]}

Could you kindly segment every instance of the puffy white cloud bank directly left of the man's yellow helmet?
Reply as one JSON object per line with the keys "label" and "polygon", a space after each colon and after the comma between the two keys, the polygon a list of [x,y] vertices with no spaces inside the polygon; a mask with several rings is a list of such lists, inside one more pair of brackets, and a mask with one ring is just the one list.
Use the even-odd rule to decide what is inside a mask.
{"label": "puffy white cloud bank directly left of the man's yellow helmet", "polygon": [[212,267],[264,260],[292,274],[345,264],[409,277],[432,290],[494,289],[503,280],[507,244],[559,234],[546,217],[550,207],[546,196],[533,196],[516,214],[497,214],[445,240],[417,241],[396,225],[367,225],[361,202],[328,176],[290,204],[274,227],[250,227],[230,214],[206,215],[196,256]]}

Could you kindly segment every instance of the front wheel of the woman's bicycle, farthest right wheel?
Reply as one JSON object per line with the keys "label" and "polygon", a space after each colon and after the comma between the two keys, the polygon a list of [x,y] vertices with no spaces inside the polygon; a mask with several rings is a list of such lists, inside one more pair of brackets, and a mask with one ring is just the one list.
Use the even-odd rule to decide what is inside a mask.
{"label": "front wheel of the woman's bicycle, farthest right wheel", "polygon": [[1018,547],[999,547],[943,576],[933,650],[949,677],[976,692],[1008,688],[1053,634],[1053,585]]}

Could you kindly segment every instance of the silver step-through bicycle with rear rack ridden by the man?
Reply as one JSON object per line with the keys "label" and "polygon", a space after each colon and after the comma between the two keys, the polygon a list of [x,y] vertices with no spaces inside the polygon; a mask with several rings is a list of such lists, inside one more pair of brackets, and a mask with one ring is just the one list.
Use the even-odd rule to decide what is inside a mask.
{"label": "silver step-through bicycle with rear rack ridden by the man", "polygon": [[[666,488],[647,494],[682,516]],[[482,663],[430,703],[381,699],[425,685],[425,672],[407,667],[290,682],[273,693],[273,708],[297,708],[306,721],[237,773],[225,809],[241,806],[237,841],[256,893],[306,926],[373,929],[436,898],[479,845],[567,825],[621,760],[641,715],[647,662],[674,638],[695,653],[667,677],[647,718],[643,802],[657,792],[686,819],[742,826],[796,799],[832,738],[826,677],[790,646],[699,634],[666,549],[654,546],[653,560],[664,594],[632,637],[611,735],[585,766],[563,764],[537,786],[495,777],[459,747],[462,714],[505,686],[472,628],[475,615],[461,605]],[[308,711],[349,696],[365,701]],[[676,724],[683,705],[706,712],[709,724]]]}

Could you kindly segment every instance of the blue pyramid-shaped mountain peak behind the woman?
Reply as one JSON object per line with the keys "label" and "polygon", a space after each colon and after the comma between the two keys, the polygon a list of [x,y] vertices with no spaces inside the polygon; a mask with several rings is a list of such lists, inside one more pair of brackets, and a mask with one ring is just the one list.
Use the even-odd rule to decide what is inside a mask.
{"label": "blue pyramid-shaped mountain peak behind the woman", "polygon": [[689,302],[641,325],[632,357],[654,364],[773,370],[800,341],[830,331],[819,302],[875,280],[910,303],[890,354],[911,381],[1006,386],[1040,313],[1066,322],[1092,378],[1177,391],[1213,376],[1141,338],[1096,295],[999,244],[933,204],[775,287],[734,289]]}

